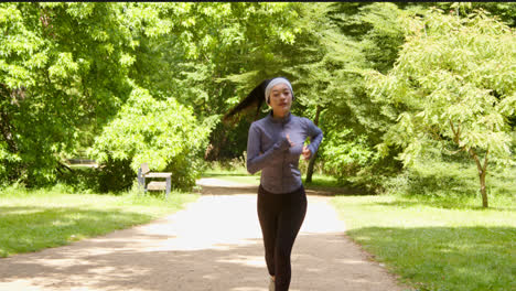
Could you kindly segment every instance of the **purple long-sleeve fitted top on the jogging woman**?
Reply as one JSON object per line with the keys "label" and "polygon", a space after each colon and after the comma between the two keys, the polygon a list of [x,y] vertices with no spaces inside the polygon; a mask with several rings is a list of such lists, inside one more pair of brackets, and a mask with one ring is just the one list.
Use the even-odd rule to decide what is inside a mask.
{"label": "purple long-sleeve fitted top on the jogging woman", "polygon": [[[271,111],[272,112],[272,111]],[[247,140],[247,171],[254,174],[261,170],[261,186],[275,194],[298,190],[301,184],[299,158],[307,138],[312,157],[323,138],[322,130],[310,119],[292,114],[273,118],[271,112],[250,125]],[[294,143],[293,147],[287,140]]]}

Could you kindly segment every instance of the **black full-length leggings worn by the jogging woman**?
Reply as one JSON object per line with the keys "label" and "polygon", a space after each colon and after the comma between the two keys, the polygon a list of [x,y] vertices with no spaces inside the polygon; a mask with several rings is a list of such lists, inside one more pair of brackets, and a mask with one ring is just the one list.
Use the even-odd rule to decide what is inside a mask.
{"label": "black full-length leggings worn by the jogging woman", "polygon": [[288,194],[272,194],[260,185],[257,208],[267,269],[276,277],[276,291],[287,291],[291,277],[290,254],[307,214],[304,187]]}

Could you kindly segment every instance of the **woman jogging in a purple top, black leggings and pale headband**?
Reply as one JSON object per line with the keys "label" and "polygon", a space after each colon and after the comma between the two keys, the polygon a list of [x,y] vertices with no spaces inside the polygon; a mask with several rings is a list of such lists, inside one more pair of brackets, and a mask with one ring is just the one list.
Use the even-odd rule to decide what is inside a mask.
{"label": "woman jogging in a purple top, black leggings and pale headband", "polygon": [[[261,171],[258,188],[258,218],[264,236],[265,258],[270,274],[269,290],[287,291],[290,285],[290,255],[307,214],[307,194],[301,182],[299,158],[309,160],[323,138],[310,119],[290,112],[294,95],[287,78],[260,84],[271,107],[251,123],[247,140],[247,171]],[[261,104],[261,103],[259,103]],[[310,138],[309,146],[304,146]]]}

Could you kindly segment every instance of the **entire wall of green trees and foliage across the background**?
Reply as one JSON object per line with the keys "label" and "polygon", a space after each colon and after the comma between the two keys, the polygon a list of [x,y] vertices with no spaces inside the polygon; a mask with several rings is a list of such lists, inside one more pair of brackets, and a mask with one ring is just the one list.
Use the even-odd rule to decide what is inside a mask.
{"label": "entire wall of green trees and foliage across the background", "polygon": [[222,117],[264,79],[286,76],[293,112],[324,131],[310,169],[383,191],[418,161],[466,153],[482,188],[491,165],[515,162],[515,11],[496,2],[1,3],[0,181],[55,183],[71,171],[67,158],[89,153],[104,174],[131,177],[147,161],[182,173],[175,186],[192,185],[203,155],[245,155],[257,116]]}

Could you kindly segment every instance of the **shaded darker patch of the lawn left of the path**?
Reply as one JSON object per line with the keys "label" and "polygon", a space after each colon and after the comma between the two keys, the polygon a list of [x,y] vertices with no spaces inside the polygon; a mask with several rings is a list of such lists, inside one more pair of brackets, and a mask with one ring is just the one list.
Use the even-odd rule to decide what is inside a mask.
{"label": "shaded darker patch of the lawn left of the path", "polygon": [[101,231],[128,227],[130,223],[148,217],[147,214],[109,208],[0,205],[0,254],[26,252],[66,245]]}

